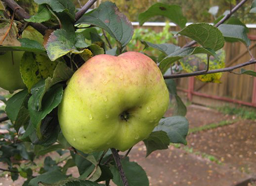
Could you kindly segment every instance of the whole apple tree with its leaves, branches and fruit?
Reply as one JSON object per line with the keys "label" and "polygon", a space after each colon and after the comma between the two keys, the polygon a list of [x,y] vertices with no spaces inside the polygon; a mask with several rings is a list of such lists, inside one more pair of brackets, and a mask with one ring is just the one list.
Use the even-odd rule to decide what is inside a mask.
{"label": "whole apple tree with its leaves, branches and fruit", "polygon": [[[248,50],[251,60],[225,68],[222,50],[225,41],[250,45],[248,28],[233,15],[247,0],[214,24],[190,25],[180,6],[156,3],[139,14],[139,24],[166,17],[179,27],[169,34],[191,42],[180,47],[142,40],[140,52],[129,51],[134,29],[115,3],[89,11],[96,1],[81,9],[70,0],[31,0],[26,7],[0,2],[0,87],[15,91],[0,96],[6,105],[0,126],[7,131],[0,134],[0,162],[8,165],[0,170],[13,180],[26,178],[23,185],[149,185],[146,172],[129,160],[133,146],[143,141],[148,156],[187,143],[186,107],[174,79],[218,82],[222,72],[256,63]],[[25,11],[30,5],[33,15]],[[250,13],[255,7],[254,0]],[[182,72],[173,69],[177,64]],[[169,96],[176,107],[164,117]],[[62,158],[53,160],[50,152]],[[39,168],[37,158],[44,158]],[[74,166],[76,178],[67,174]]]}

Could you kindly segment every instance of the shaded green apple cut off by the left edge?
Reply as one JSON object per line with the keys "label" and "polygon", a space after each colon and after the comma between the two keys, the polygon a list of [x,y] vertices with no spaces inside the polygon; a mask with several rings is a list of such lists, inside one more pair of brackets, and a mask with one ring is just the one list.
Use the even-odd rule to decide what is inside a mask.
{"label": "shaded green apple cut off by the left edge", "polygon": [[22,59],[23,54],[24,51],[7,51],[5,54],[0,55],[1,88],[10,92],[26,88],[19,72],[19,62]]}

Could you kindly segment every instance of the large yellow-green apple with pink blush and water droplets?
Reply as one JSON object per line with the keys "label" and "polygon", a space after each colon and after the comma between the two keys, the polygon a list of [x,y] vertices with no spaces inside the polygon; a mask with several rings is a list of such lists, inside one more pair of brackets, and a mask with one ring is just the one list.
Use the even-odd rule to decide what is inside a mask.
{"label": "large yellow-green apple with pink blush and water droplets", "polygon": [[168,104],[167,87],[152,59],[132,51],[98,55],[71,77],[58,119],[64,137],[78,150],[125,151],[151,134]]}

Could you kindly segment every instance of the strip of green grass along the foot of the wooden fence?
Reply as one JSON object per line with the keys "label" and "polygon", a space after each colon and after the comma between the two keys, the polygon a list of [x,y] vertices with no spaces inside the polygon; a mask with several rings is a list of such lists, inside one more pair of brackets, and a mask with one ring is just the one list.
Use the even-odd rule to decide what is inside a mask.
{"label": "strip of green grass along the foot of the wooden fence", "polygon": [[244,107],[230,107],[230,105],[225,105],[223,107],[217,108],[223,114],[239,116],[243,119],[256,119],[256,109],[254,108],[244,108]]}

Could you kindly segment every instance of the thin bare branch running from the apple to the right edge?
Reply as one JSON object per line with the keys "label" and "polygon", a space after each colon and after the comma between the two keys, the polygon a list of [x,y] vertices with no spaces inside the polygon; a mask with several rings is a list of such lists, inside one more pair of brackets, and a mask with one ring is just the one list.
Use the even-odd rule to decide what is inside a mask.
{"label": "thin bare branch running from the apple to the right edge", "polygon": [[218,73],[218,72],[232,72],[232,70],[241,68],[243,66],[255,64],[256,60],[251,59],[245,63],[235,65],[232,67],[227,67],[227,68],[221,68],[221,69],[215,69],[215,70],[209,70],[208,72],[206,70],[201,70],[197,72],[191,72],[191,73],[184,73],[184,74],[173,74],[173,75],[164,75],[163,77],[165,79],[174,79],[174,78],[181,78],[181,77],[190,77],[190,76],[197,76],[197,75],[204,75],[204,74],[211,74],[211,73]]}

